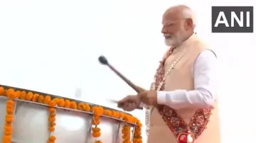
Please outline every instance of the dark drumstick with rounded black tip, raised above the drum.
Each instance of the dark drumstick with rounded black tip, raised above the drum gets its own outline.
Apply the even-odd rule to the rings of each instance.
[[[114,67],[112,67],[112,65],[107,61],[106,57],[100,56],[99,61],[101,64],[106,65],[112,71],[114,71],[114,73],[117,74],[117,76],[119,76],[122,80],[124,80],[124,82],[126,82],[129,86],[131,86],[134,89],[134,91],[136,91],[137,93],[141,92],[141,90],[139,90],[139,88],[137,88],[137,86],[135,86],[135,84],[133,84],[132,81],[129,81],[129,79],[127,79],[124,75],[117,71],[117,69],[114,69]],[[142,110],[143,108],[138,109]]]

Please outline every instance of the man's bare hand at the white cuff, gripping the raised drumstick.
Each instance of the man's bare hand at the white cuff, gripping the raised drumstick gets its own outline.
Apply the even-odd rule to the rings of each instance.
[[[146,105],[157,105],[157,92],[156,91],[142,91],[138,94],[141,101]]]

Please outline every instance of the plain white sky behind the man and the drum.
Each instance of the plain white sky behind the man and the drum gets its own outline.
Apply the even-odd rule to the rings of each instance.
[[[176,4],[193,8],[198,35],[217,52],[223,143],[253,139],[256,35],[211,33],[211,6],[253,6],[252,0],[1,0],[0,84],[69,98],[82,88],[80,100],[115,108],[105,98],[134,91],[97,57],[105,55],[134,83],[149,88],[166,50],[161,15]],[[144,122],[144,111],[132,114]]]

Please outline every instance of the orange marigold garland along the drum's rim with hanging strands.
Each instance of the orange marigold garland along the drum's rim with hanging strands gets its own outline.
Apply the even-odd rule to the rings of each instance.
[[[68,99],[63,98],[53,98],[51,100],[50,96],[43,96],[38,93],[32,93],[26,91],[16,91],[14,88],[5,89],[4,87],[0,87],[0,96],[6,96],[8,101],[6,102],[6,122],[4,125],[4,136],[2,139],[3,143],[11,143],[11,132],[12,132],[12,122],[14,121],[14,107],[15,107],[15,99],[21,99],[23,101],[33,101],[36,103],[42,103],[44,105],[48,105],[48,131],[50,132],[50,137],[48,137],[47,143],[55,143],[56,137],[52,135],[55,131],[55,117],[56,117],[56,107],[60,108],[70,108],[73,110],[82,110],[87,113],[93,113],[92,118],[92,136],[96,138],[94,143],[102,143],[98,137],[100,137],[100,116],[106,115],[112,118],[118,118],[124,120],[126,124],[122,129],[123,133],[123,143],[131,143],[130,140],[130,126],[127,122],[131,122],[136,124],[134,130],[134,139],[133,143],[142,143],[142,124],[139,120],[132,115],[127,115],[126,113],[119,113],[114,110],[107,110],[102,108],[101,106],[93,106],[90,107],[87,103],[76,103],[75,101],[69,101]]]

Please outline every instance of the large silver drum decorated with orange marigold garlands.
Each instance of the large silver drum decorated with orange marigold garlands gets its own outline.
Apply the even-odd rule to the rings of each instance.
[[[6,143],[142,142],[134,116],[70,98],[0,85],[0,110]]]

